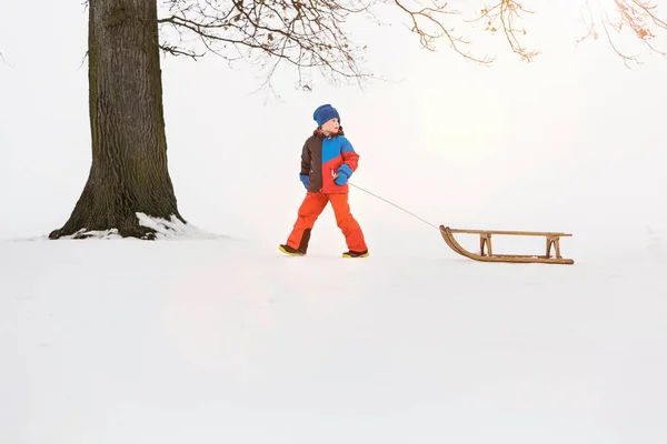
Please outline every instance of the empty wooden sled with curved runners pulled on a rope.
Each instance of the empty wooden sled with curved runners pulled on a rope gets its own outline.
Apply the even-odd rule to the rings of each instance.
[[[454,233],[479,234],[479,253],[470,253],[464,249],[454,238]],[[571,236],[568,233],[551,233],[540,231],[497,231],[497,230],[459,230],[440,225],[442,239],[455,252],[475,261],[482,262],[515,262],[515,263],[552,263],[552,264],[574,264],[571,259],[565,259],[560,255],[560,238]],[[547,241],[547,252],[545,255],[524,255],[524,254],[495,254],[491,248],[491,235],[530,235],[545,236]],[[485,252],[486,248],[486,252]],[[556,255],[551,255],[551,248]],[[488,254],[487,254],[488,252]]]

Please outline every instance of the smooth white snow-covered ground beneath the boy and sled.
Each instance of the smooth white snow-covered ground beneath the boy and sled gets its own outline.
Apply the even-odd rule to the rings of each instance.
[[[667,440],[666,263],[486,264],[434,233],[361,260],[4,241],[1,441]]]

